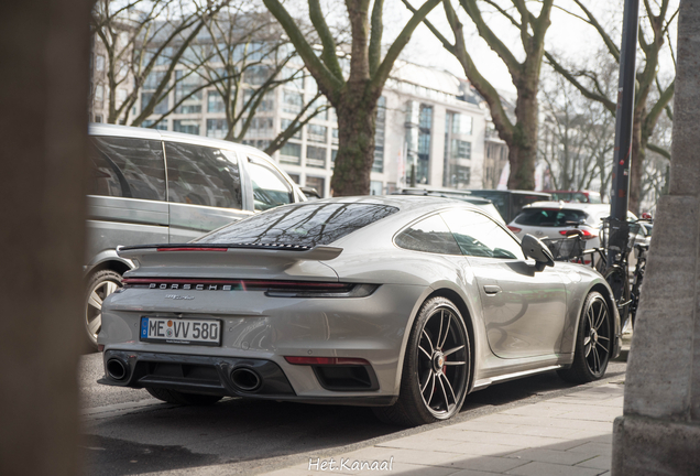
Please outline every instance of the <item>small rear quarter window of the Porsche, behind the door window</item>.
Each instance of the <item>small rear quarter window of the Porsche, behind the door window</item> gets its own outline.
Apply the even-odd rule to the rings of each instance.
[[[455,237],[439,215],[423,219],[396,236],[396,246],[414,251],[461,255]]]

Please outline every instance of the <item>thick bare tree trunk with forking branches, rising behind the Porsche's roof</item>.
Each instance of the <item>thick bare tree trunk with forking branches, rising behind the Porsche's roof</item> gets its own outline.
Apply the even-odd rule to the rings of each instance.
[[[318,90],[336,109],[339,148],[330,181],[333,194],[369,194],[378,100],[414,30],[440,0],[427,0],[414,12],[383,58],[384,0],[374,0],[373,4],[370,0],[344,0],[351,35],[349,60],[339,52],[320,0],[308,0],[308,14],[320,51],[307,40],[303,23],[295,21],[280,0],[263,2],[287,33]],[[349,62],[349,71],[343,71],[346,62]]]

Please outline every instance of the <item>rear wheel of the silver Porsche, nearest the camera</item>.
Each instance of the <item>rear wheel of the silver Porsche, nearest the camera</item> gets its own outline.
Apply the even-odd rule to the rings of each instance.
[[[372,410],[383,422],[402,426],[448,420],[464,402],[470,375],[471,346],[464,320],[451,301],[430,299],[408,336],[398,400]]]

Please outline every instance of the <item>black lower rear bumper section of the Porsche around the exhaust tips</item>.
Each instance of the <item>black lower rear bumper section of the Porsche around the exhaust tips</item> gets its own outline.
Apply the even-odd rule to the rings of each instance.
[[[111,349],[105,351],[103,360],[106,368],[108,363],[116,360],[127,369],[123,378],[117,379],[106,372],[98,380],[98,383],[114,387],[167,388],[186,393],[365,407],[391,405],[396,400],[392,396],[343,397],[338,392],[332,397],[298,396],[282,368],[265,359]],[[259,376],[260,386],[254,389],[237,386],[231,374],[240,369]],[[373,370],[368,368],[368,372],[370,380],[376,382]]]

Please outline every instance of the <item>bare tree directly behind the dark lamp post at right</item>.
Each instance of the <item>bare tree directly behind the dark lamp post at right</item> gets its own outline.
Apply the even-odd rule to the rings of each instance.
[[[606,29],[582,0],[573,0],[581,13],[570,12],[592,26],[602,39],[608,54],[619,64],[620,47],[613,41],[610,29]],[[642,199],[642,177],[645,169],[646,151],[650,150],[670,160],[670,152],[664,147],[650,142],[659,117],[666,113],[672,118],[670,102],[675,90],[675,74],[663,82],[659,76],[659,60],[663,54],[674,52],[670,47],[670,30],[678,14],[677,8],[671,8],[671,0],[644,1],[644,14],[641,15],[638,43],[642,63],[637,67],[634,123],[632,129],[632,164],[630,170],[630,210],[639,212]],[[665,46],[668,46],[666,48]],[[616,110],[617,91],[604,91],[600,87],[600,73],[594,68],[567,67],[564,62],[551,52],[545,52],[547,62],[554,69],[576,86],[583,96],[603,105],[614,115]]]

